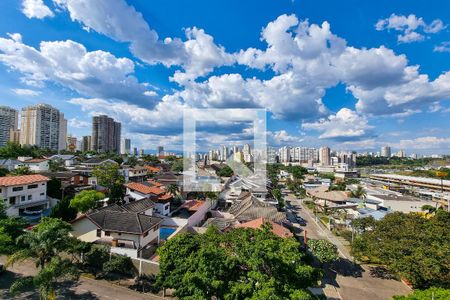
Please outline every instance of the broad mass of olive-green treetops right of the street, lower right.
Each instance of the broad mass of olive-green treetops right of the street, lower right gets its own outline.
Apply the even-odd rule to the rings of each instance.
[[[380,262],[414,287],[450,285],[450,213],[391,213],[353,243],[356,258]],[[366,224],[367,225],[367,224]],[[362,225],[366,227],[366,225]]]

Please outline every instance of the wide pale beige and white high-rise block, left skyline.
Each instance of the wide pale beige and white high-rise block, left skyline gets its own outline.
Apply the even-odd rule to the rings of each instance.
[[[23,108],[20,126],[21,145],[66,149],[67,120],[51,105],[37,104]]]

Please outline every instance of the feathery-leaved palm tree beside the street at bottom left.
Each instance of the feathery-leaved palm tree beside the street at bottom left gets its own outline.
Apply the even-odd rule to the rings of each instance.
[[[71,245],[68,236],[70,230],[70,224],[60,219],[45,217],[33,230],[18,238],[24,247],[9,256],[7,265],[33,259],[39,271],[32,278],[25,277],[14,282],[10,287],[12,294],[32,283],[39,289],[41,299],[53,299],[58,279],[78,277],[72,262],[60,256]]]

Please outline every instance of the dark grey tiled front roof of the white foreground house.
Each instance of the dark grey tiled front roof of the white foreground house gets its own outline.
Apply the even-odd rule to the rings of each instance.
[[[143,234],[162,222],[161,218],[133,212],[102,209],[87,217],[103,231]]]

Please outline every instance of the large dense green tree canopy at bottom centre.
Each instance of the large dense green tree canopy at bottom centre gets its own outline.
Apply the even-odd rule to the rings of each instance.
[[[304,262],[293,238],[263,230],[180,234],[158,249],[157,284],[179,299],[314,299],[319,272]]]

